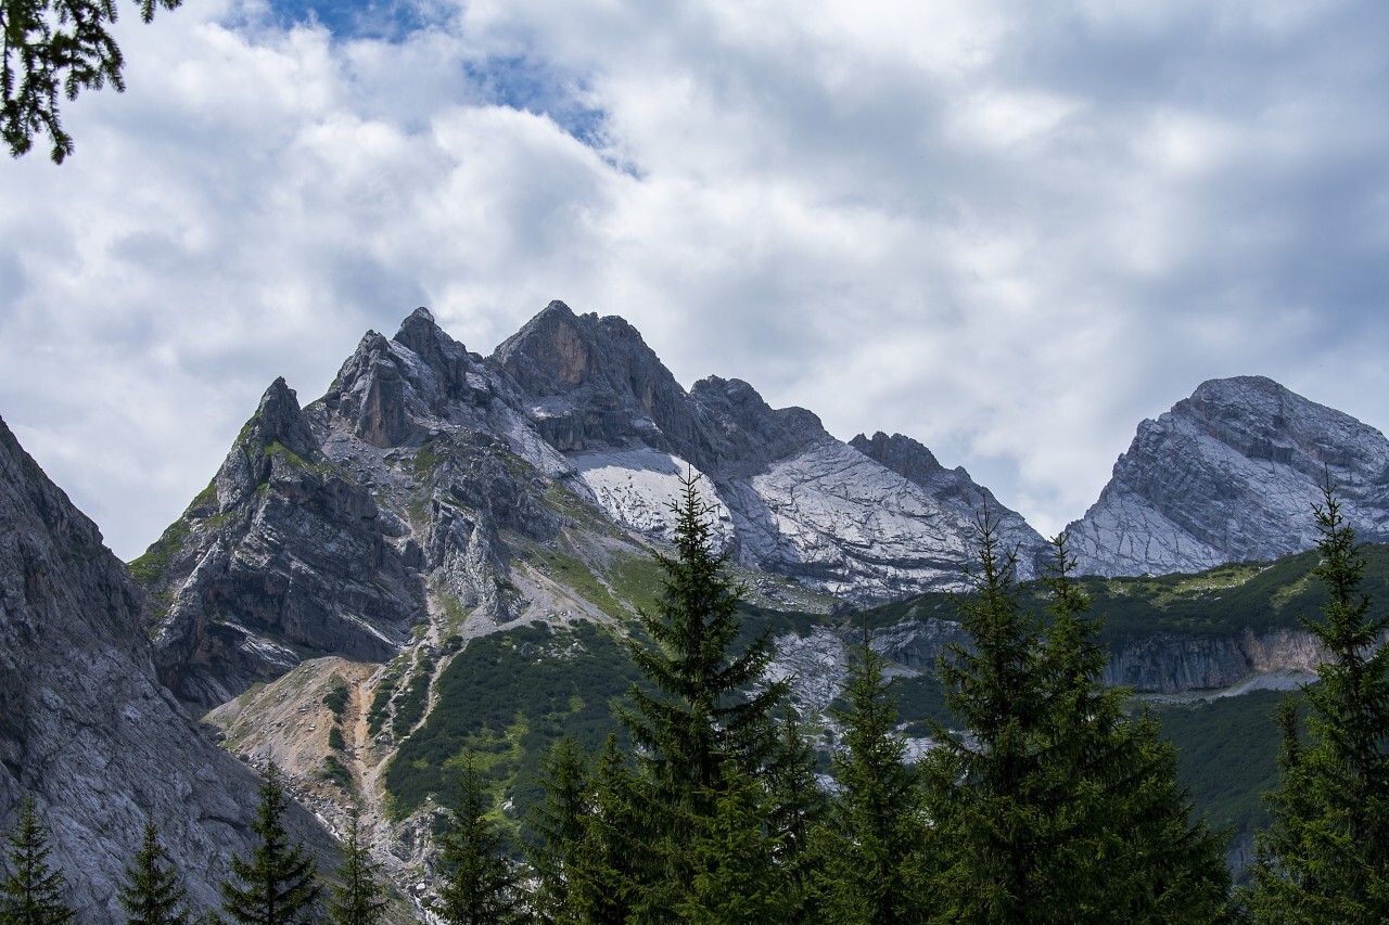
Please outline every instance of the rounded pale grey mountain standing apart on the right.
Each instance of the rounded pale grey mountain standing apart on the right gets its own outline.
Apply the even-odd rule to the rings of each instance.
[[[1067,528],[1082,574],[1196,572],[1311,549],[1329,475],[1361,540],[1389,539],[1389,440],[1263,376],[1213,379],[1143,421]]]

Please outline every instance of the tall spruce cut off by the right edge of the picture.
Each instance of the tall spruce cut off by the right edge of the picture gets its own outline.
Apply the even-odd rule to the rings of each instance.
[[[1328,590],[1320,619],[1303,625],[1329,654],[1304,688],[1307,742],[1296,704],[1282,732],[1274,821],[1256,839],[1250,907],[1270,922],[1389,921],[1389,614],[1372,615],[1360,590],[1365,560],[1328,475],[1314,512],[1321,539],[1315,575]]]

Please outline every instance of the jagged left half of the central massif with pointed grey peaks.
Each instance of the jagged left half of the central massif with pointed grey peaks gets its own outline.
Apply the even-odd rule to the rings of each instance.
[[[553,538],[574,468],[482,358],[417,310],[368,332],[328,394],[267,390],[208,492],[133,562],[160,676],[211,708],[306,658],[389,661],[439,607],[506,621],[513,533]]]

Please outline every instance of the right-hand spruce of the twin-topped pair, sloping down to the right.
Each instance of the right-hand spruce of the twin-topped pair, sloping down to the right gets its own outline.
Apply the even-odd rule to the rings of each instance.
[[[1101,621],[1071,579],[1065,538],[1043,576],[1047,701],[1038,807],[1043,851],[1033,875],[1035,922],[1215,922],[1232,915],[1218,838],[1176,783],[1176,750],[1132,692],[1101,683]]]

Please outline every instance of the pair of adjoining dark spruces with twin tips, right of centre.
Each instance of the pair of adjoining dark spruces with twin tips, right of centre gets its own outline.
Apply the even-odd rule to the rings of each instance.
[[[976,593],[961,599],[971,647],[942,658],[951,712],[928,754],[926,814],[940,914],[951,921],[1221,921],[1220,842],[1176,785],[1157,722],[1104,689],[1099,629],[1068,575],[1064,540],[1045,581],[1050,621],[1022,603],[1014,560],[981,522]]]

